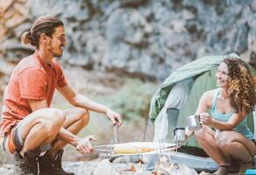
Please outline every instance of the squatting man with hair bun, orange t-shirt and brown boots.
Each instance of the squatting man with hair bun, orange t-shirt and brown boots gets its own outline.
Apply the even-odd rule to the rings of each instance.
[[[121,116],[69,86],[54,59],[62,55],[67,44],[60,19],[38,18],[21,40],[36,50],[18,63],[4,90],[0,123],[4,149],[14,153],[17,174],[74,174],[61,168],[61,156],[66,144],[75,146],[82,154],[93,151],[90,141],[95,137],[76,136],[89,123],[89,110],[108,116],[118,126],[122,123]],[[75,108],[64,111],[50,108],[55,88]],[[45,155],[39,157],[43,151]]]

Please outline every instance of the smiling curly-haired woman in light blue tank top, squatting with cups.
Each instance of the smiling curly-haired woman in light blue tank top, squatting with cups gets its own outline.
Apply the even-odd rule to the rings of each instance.
[[[216,78],[218,88],[205,92],[196,110],[203,128],[186,130],[186,135],[194,133],[203,150],[219,165],[214,174],[227,174],[231,157],[240,160],[239,173],[244,173],[252,168],[256,154],[254,137],[246,126],[246,114],[256,103],[255,81],[245,63],[231,57],[220,64]]]

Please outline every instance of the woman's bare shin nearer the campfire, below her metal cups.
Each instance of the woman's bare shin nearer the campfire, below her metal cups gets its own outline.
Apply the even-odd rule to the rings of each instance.
[[[201,130],[195,131],[197,142],[203,147],[203,150],[212,158],[217,165],[226,165],[227,157],[219,148],[215,139],[215,131],[209,126],[203,126]]]

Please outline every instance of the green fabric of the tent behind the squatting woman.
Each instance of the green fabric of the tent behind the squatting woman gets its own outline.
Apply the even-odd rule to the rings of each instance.
[[[235,53],[231,53],[230,55],[238,58],[238,55]],[[192,83],[191,88],[189,88],[188,101],[182,107],[182,109],[179,109],[179,112],[176,113],[178,116],[177,121],[171,121],[171,123],[175,123],[175,126],[186,127],[186,117],[195,114],[199,99],[203,93],[210,89],[217,88],[215,78],[217,67],[224,58],[230,55],[214,55],[204,57],[202,59],[196,59],[195,61],[181,66],[181,68],[174,71],[167,78],[167,80],[164,81],[164,83],[160,86],[160,89],[153,96],[151,109],[149,112],[149,116],[152,121],[155,121],[156,117],[158,117],[160,114],[160,110],[164,108],[165,102],[167,101],[167,96],[171,92],[174,85],[179,81],[192,77],[194,82]],[[253,74],[256,74],[256,70],[253,68],[252,72]],[[247,118],[247,124],[250,130],[253,132],[254,127],[252,114],[250,114]],[[155,128],[155,130],[160,129]],[[199,147],[194,137],[189,138],[187,145]]]

